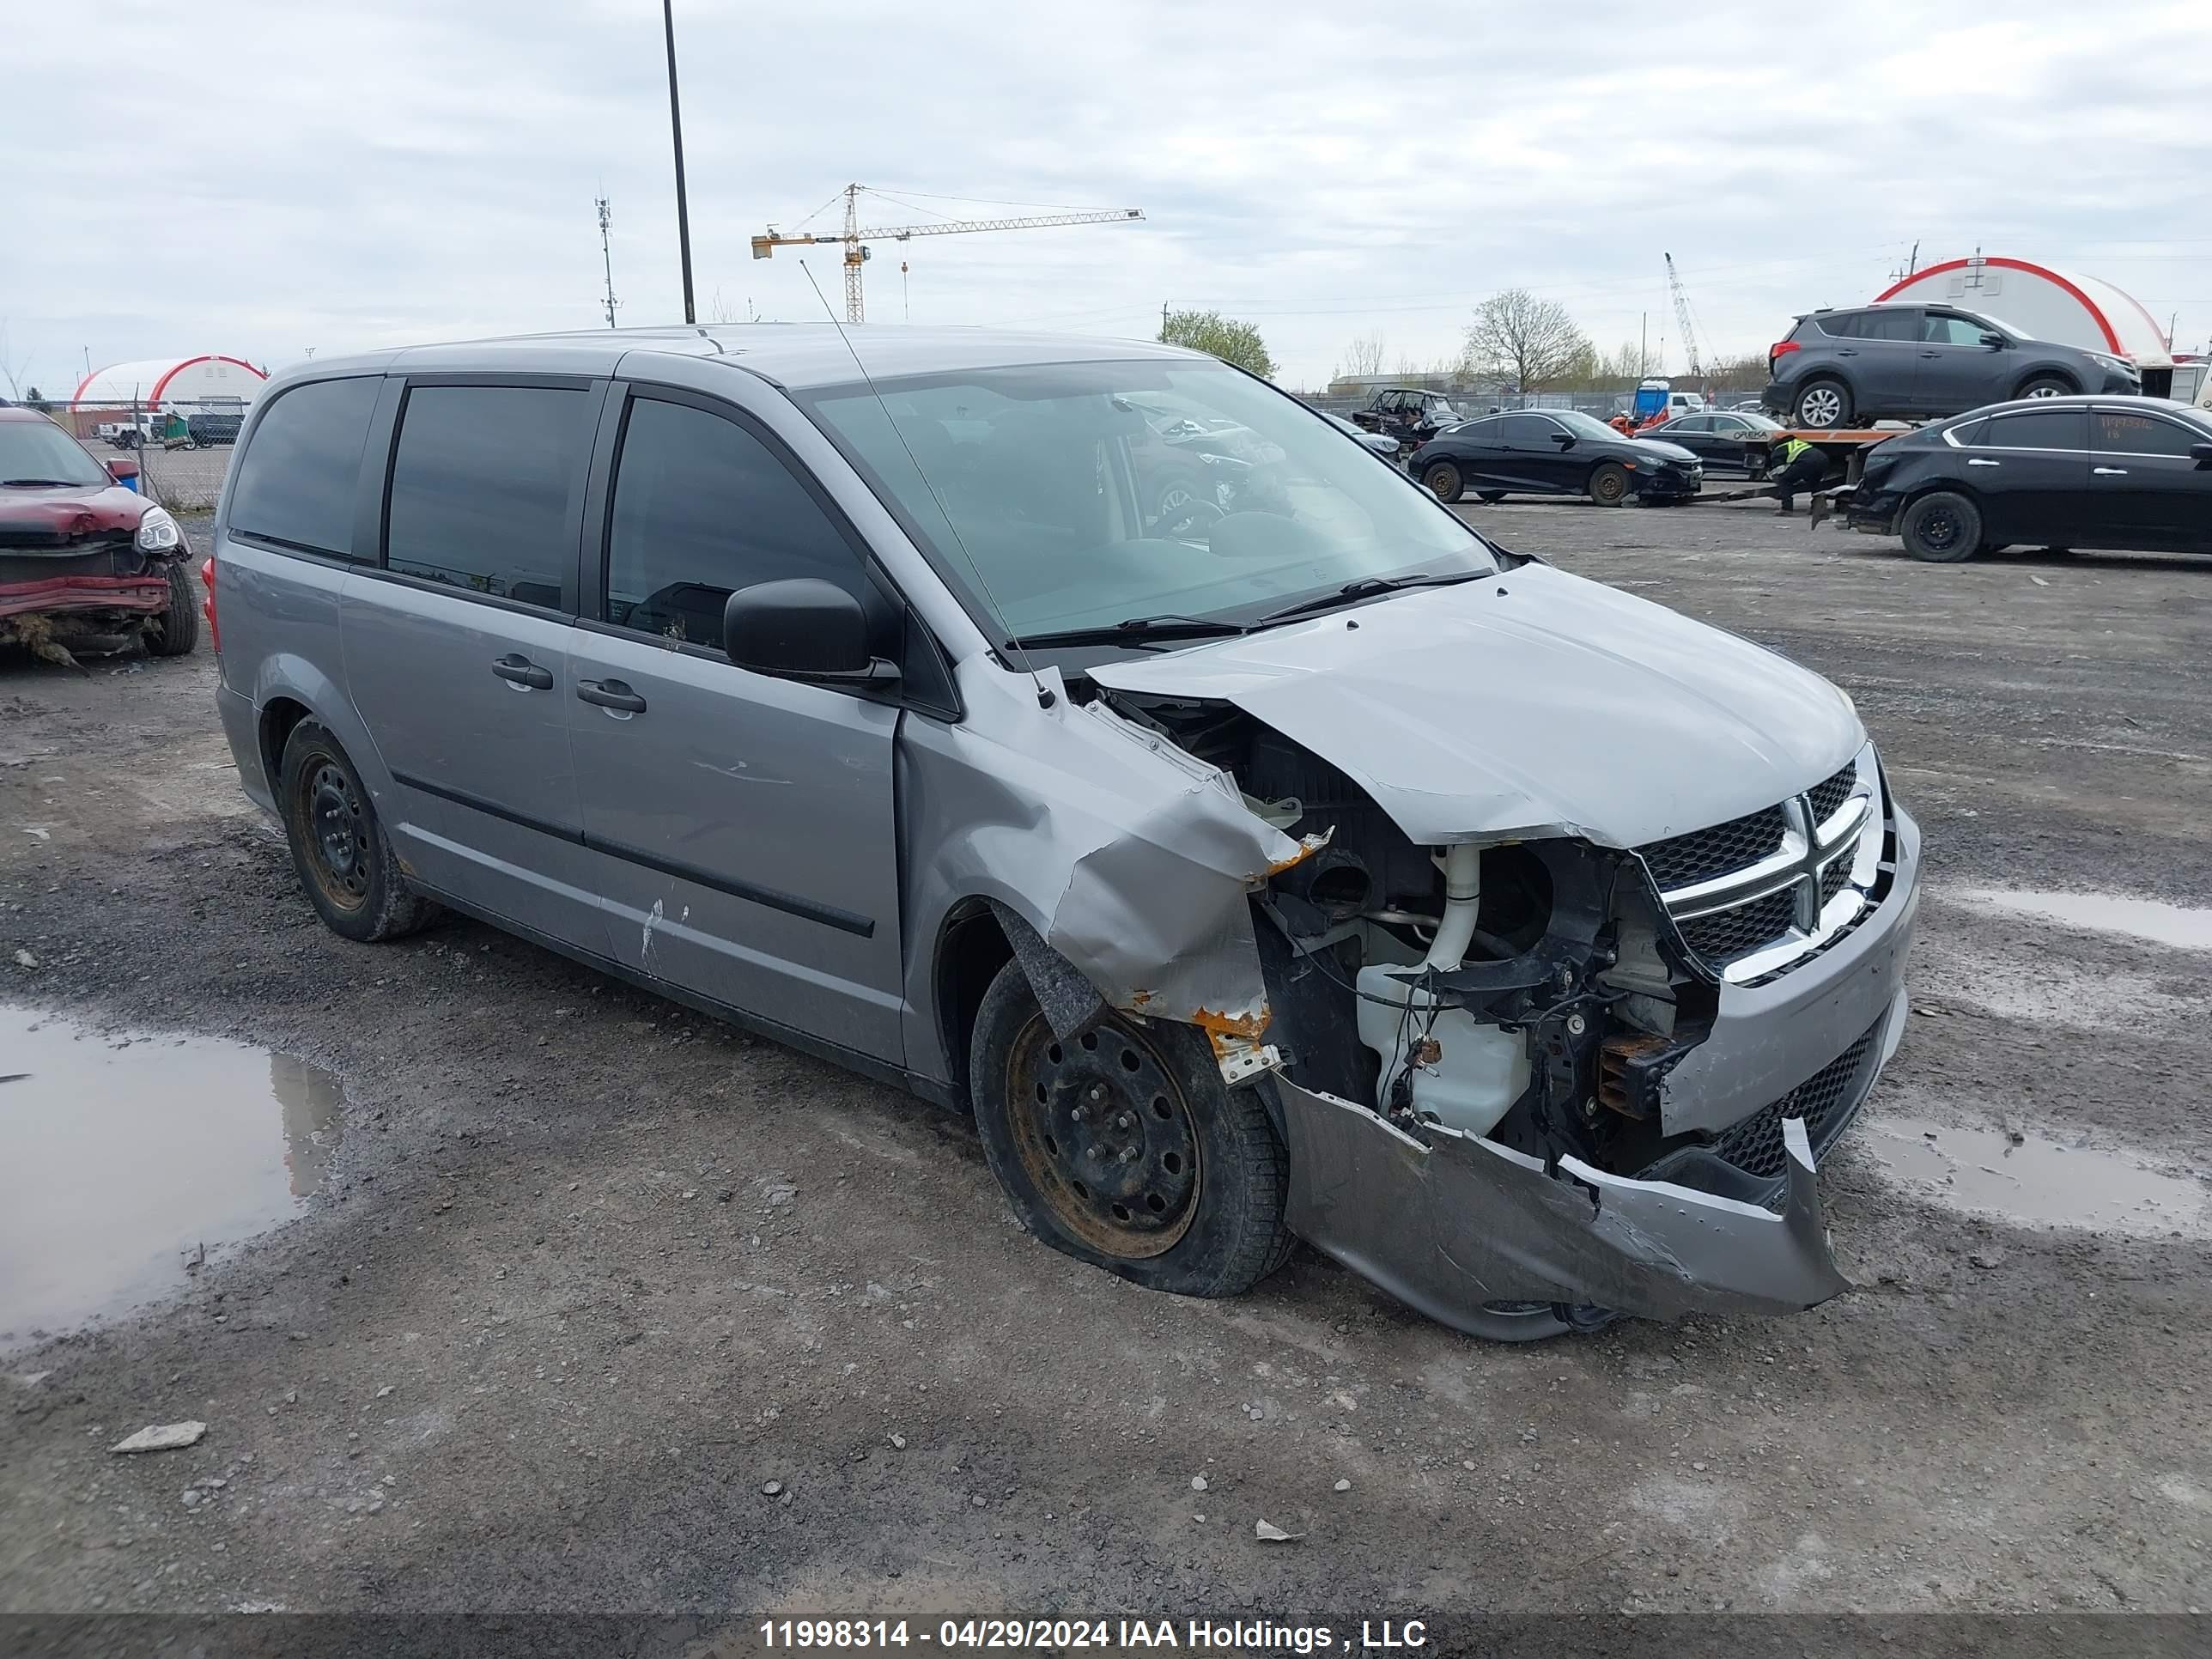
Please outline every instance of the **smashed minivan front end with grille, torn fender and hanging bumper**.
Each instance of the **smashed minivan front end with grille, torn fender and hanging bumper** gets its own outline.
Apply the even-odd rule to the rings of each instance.
[[[1847,1287],[1814,1166],[1896,1048],[1918,863],[1856,719],[1794,794],[1606,845],[1524,810],[1416,841],[1230,697],[1068,717],[1190,792],[1002,922],[1062,1037],[1106,1004],[1208,1031],[1292,1232],[1491,1338]]]

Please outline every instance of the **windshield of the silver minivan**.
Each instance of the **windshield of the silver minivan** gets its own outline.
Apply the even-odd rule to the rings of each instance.
[[[1243,624],[1352,582],[1495,568],[1409,478],[1219,363],[878,389],[801,405],[998,639],[1159,615]]]

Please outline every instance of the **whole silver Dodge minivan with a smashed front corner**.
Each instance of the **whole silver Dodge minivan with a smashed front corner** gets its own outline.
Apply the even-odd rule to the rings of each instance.
[[[1175,420],[1164,420],[1172,409]],[[310,902],[945,1106],[1046,1243],[1307,1239],[1500,1338],[1845,1287],[1920,834],[1851,701],[1164,345],[628,330],[301,365],[215,526]]]

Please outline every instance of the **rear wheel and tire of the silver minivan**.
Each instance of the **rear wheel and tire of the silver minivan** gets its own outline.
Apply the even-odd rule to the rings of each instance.
[[[276,801],[299,885],[332,933],[372,945],[438,914],[400,878],[376,803],[321,721],[301,721],[285,739]]]

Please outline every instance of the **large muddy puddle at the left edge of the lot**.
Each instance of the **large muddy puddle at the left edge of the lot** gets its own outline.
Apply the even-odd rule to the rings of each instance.
[[[0,1345],[175,1290],[201,1243],[299,1214],[338,1144],[336,1077],[215,1037],[0,1006]]]

